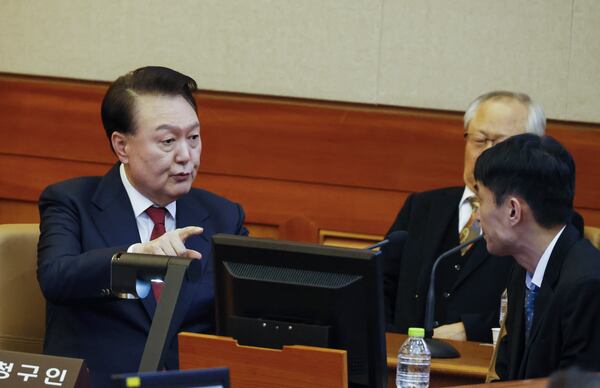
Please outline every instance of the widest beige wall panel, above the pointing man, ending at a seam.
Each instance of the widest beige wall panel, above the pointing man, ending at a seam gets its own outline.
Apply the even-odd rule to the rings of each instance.
[[[375,102],[381,1],[7,1],[0,71],[112,80],[181,69],[203,89]]]

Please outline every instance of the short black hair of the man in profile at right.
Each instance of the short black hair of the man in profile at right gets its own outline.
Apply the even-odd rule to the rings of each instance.
[[[475,180],[494,194],[496,205],[508,195],[523,198],[545,228],[571,217],[575,162],[550,136],[516,135],[484,151],[475,163]]]

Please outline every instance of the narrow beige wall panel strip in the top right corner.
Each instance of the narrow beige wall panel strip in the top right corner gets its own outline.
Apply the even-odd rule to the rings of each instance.
[[[600,122],[600,2],[575,0],[567,117]]]

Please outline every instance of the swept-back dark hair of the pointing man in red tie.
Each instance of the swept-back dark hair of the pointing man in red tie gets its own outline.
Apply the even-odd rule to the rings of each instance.
[[[138,95],[181,96],[196,110],[196,81],[160,66],[141,67],[117,78],[102,100],[102,124],[110,142],[113,132],[134,133],[133,109]]]

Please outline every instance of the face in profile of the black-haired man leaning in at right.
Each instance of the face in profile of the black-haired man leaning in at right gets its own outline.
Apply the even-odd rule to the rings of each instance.
[[[492,193],[481,182],[475,185],[477,197],[479,198],[479,214],[477,218],[487,243],[487,250],[493,255],[508,255],[507,250],[511,246],[513,229],[510,227],[510,204],[504,200],[496,204],[494,193]]]

